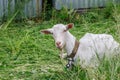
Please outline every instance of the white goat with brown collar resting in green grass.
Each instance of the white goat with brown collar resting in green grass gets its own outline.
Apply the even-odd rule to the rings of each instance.
[[[108,34],[86,33],[78,42],[68,31],[73,26],[72,23],[68,25],[56,24],[51,29],[41,30],[44,34],[52,34],[56,47],[67,52],[70,58],[67,67],[78,60],[80,60],[80,65],[83,68],[95,67],[98,65],[97,58],[109,57],[115,53],[119,46],[113,37]]]

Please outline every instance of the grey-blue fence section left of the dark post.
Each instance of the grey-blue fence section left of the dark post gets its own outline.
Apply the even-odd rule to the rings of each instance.
[[[42,11],[42,0],[0,0],[0,20],[14,14],[20,8],[24,17],[39,16]]]

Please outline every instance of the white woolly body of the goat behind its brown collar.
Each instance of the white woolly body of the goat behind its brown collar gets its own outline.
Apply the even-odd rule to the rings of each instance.
[[[76,57],[80,57],[81,64],[89,65],[95,57],[101,59],[103,56],[110,56],[118,46],[119,43],[111,35],[86,33],[80,39]]]

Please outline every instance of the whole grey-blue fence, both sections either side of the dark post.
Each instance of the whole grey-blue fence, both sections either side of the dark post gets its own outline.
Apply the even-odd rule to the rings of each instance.
[[[25,2],[26,1],[26,2]],[[51,0],[55,9],[60,10],[63,6],[68,9],[81,9],[93,7],[105,7],[110,1],[120,0]],[[0,21],[8,15],[14,14],[17,9],[22,9],[24,17],[38,17],[42,11],[45,0],[0,0]],[[25,4],[22,4],[25,3]]]

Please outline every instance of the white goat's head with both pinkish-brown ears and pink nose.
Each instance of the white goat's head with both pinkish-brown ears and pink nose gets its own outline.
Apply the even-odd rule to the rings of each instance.
[[[69,23],[67,25],[56,24],[50,29],[41,30],[41,32],[44,34],[52,34],[56,47],[62,49],[65,46],[66,34],[73,26],[73,23]]]

